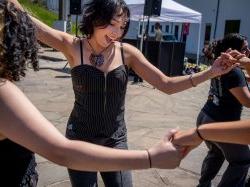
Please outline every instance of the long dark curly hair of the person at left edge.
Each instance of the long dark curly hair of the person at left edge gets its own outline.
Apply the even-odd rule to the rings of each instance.
[[[25,76],[26,65],[31,64],[37,71],[37,40],[35,27],[27,13],[15,8],[13,3],[0,0],[3,17],[3,41],[0,42],[0,78],[10,81]]]

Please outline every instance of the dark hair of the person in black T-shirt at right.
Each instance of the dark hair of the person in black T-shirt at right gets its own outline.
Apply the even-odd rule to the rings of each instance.
[[[230,33],[226,35],[223,39],[212,42],[209,46],[209,53],[207,57],[213,57],[213,59],[218,58],[222,52],[226,52],[229,48],[232,50],[240,51],[244,44],[244,41],[247,40],[245,36],[242,36],[238,33]],[[208,56],[210,55],[210,56]]]

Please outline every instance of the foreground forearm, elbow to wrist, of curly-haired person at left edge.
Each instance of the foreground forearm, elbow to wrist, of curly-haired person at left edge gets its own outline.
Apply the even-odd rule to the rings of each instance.
[[[80,141],[68,141],[57,163],[76,170],[118,171],[149,168],[147,152],[111,149]],[[60,161],[63,161],[60,163]]]

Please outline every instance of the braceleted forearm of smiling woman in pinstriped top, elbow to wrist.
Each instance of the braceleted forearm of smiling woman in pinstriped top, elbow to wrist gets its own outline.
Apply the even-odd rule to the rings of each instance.
[[[205,70],[199,73],[195,73],[186,76],[178,77],[168,77],[161,84],[160,90],[167,94],[174,94],[184,90],[187,90],[191,87],[197,86],[198,84],[213,78],[211,70]]]

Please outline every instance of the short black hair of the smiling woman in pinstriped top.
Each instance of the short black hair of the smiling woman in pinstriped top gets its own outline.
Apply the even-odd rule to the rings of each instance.
[[[130,11],[124,0],[88,0],[84,4],[80,31],[82,34],[91,37],[94,27],[107,26],[119,9],[127,16],[128,20],[124,28],[123,38],[128,32],[130,23]]]

